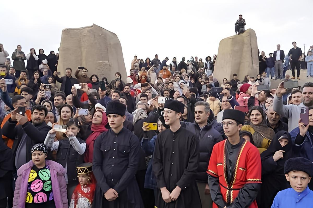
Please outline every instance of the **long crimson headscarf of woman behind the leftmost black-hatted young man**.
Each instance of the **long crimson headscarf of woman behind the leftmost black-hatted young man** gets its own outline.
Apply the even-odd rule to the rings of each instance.
[[[102,113],[102,121],[101,124],[91,124],[92,133],[86,139],[85,162],[92,162],[94,154],[94,143],[96,138],[101,133],[108,131],[108,129],[105,128],[105,125],[108,123],[108,117],[106,116],[105,112],[102,112],[101,110],[97,110],[96,112]]]

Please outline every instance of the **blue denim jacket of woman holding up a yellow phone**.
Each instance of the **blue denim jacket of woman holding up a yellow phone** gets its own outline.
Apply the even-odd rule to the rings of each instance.
[[[149,141],[148,138],[143,138],[142,142],[141,142],[141,148],[143,149],[143,151],[146,153],[146,155],[152,155],[153,151],[154,151],[154,146],[156,143],[156,137],[157,135],[155,135],[154,137],[152,137],[152,139]],[[153,156],[152,156],[153,157]],[[146,177],[145,177],[145,188],[149,188],[149,189],[156,189],[156,177],[153,173],[152,170],[152,161],[153,158],[151,157],[148,166],[147,166],[147,171],[146,171]]]

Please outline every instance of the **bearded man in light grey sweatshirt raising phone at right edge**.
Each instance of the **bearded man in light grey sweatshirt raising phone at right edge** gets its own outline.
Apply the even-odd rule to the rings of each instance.
[[[313,83],[307,82],[303,85],[301,94],[302,103],[299,105],[283,105],[283,94],[286,92],[284,82],[286,81],[281,82],[276,90],[276,95],[273,100],[273,109],[282,117],[288,118],[288,131],[291,132],[298,127],[301,108],[313,106]]]

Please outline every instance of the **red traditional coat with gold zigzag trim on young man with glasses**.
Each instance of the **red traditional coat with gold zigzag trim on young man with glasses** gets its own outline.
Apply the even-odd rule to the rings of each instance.
[[[207,173],[218,177],[224,201],[232,203],[239,193],[239,189],[246,183],[261,183],[261,157],[259,150],[250,142],[244,141],[239,150],[235,173],[230,184],[227,181],[226,170],[226,141],[214,145]],[[257,208],[254,200],[249,208]],[[213,208],[218,206],[213,202]]]

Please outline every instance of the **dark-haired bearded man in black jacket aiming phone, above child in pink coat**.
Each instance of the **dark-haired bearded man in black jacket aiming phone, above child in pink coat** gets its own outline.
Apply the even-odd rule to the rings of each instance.
[[[30,149],[44,140],[51,129],[44,122],[48,110],[43,105],[34,105],[31,109],[32,120],[28,121],[27,115],[14,109],[11,118],[3,126],[3,135],[8,138],[17,138],[12,147],[13,160],[16,170],[30,161]],[[17,125],[19,123],[20,125]]]

